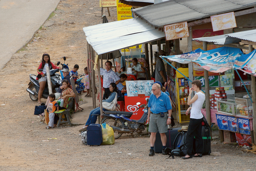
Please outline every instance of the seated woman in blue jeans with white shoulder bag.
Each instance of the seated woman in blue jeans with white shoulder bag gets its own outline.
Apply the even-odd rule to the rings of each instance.
[[[117,93],[117,87],[116,87],[116,84],[115,83],[110,83],[109,85],[109,90],[111,92],[110,96],[108,99],[104,99],[102,100],[102,102],[106,101],[106,102],[112,102],[115,97],[116,97],[116,93]],[[106,109],[103,108],[103,111],[108,111]],[[93,115],[92,115],[93,114]],[[92,115],[92,116],[91,116]],[[93,110],[91,110],[90,112],[90,115],[89,115],[89,118],[85,124],[85,126],[79,130],[79,132],[82,132],[82,131],[86,131],[87,130],[87,127],[92,124],[92,123],[96,123],[97,121],[97,115],[100,115],[100,107],[97,107]]]

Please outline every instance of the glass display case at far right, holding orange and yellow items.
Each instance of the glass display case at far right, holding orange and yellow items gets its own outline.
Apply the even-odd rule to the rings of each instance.
[[[237,116],[252,117],[252,102],[250,99],[235,97]]]

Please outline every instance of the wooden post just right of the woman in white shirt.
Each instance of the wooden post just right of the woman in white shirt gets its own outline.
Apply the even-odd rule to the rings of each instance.
[[[203,42],[203,50],[207,51],[207,42]],[[210,111],[210,87],[209,87],[209,75],[208,71],[204,69],[205,76],[205,110],[206,119],[209,124],[211,124],[211,111]]]

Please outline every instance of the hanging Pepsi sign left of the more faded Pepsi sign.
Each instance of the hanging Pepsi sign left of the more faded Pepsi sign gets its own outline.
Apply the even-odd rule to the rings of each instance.
[[[166,40],[174,40],[183,37],[189,37],[188,23],[180,22],[164,26]]]

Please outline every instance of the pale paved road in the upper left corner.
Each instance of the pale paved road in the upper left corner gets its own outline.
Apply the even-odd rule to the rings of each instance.
[[[0,0],[0,70],[44,24],[60,0]]]

